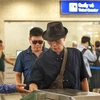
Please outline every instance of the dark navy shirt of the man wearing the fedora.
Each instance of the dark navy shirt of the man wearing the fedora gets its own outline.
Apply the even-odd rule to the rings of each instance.
[[[48,49],[34,63],[30,73],[29,83],[35,83],[39,89],[47,89],[56,79],[62,65],[64,51],[60,55]],[[83,57],[79,50],[68,48],[67,63],[65,66],[63,87],[81,89],[80,82],[87,78]]]

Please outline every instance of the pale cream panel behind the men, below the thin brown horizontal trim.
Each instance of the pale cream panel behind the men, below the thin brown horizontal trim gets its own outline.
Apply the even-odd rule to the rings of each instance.
[[[46,30],[47,21],[34,22],[5,22],[5,54],[8,56],[16,56],[16,50],[24,50],[29,47],[29,31],[32,27],[41,27]],[[68,34],[65,41],[65,46],[71,47],[72,41],[77,41],[80,44],[81,37],[86,35],[90,29],[87,26],[93,26],[93,22],[62,22],[68,28]],[[97,27],[97,26],[95,26]],[[99,31],[96,28],[92,32]],[[100,27],[100,25],[98,26]],[[100,37],[92,37],[92,39],[99,39]],[[46,47],[48,44],[46,43]]]

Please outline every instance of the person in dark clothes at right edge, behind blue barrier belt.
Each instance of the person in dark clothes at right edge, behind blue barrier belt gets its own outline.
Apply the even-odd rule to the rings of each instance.
[[[94,68],[98,69],[91,69],[92,78],[90,79],[90,86],[91,90],[94,92],[99,93],[100,90],[100,41],[95,41],[95,51],[97,55],[97,60],[93,63]]]

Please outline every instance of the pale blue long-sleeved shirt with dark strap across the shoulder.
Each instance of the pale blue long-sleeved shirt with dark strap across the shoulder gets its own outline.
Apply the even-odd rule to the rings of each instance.
[[[82,45],[79,45],[77,47],[77,49],[80,50],[81,52],[84,48],[85,47]],[[87,49],[83,54],[83,59],[84,59],[84,63],[85,63],[86,69],[88,71],[88,74],[91,77],[92,74],[91,74],[91,70],[90,70],[90,66],[89,66],[89,61],[96,61],[96,59],[97,59],[96,52],[93,51],[93,53],[92,53],[89,49]]]

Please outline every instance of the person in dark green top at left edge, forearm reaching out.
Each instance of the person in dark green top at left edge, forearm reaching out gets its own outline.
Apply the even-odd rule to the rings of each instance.
[[[3,41],[0,40],[0,84],[4,83],[5,62],[14,66],[14,63],[5,56],[3,50],[4,50]],[[1,96],[1,99],[5,100],[3,95]]]

